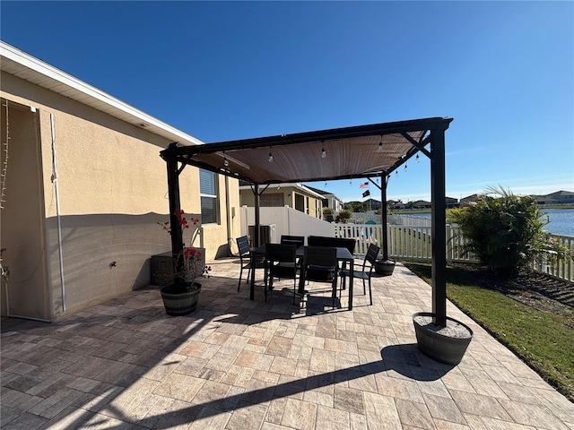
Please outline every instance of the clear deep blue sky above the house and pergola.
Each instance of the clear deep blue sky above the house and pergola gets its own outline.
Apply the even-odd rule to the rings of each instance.
[[[204,142],[448,116],[448,196],[574,191],[572,2],[3,0],[0,13],[5,42]],[[430,178],[409,162],[388,198],[429,200]],[[361,182],[314,186],[362,200]]]

